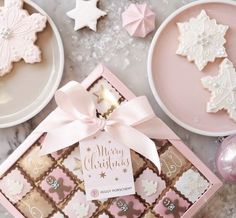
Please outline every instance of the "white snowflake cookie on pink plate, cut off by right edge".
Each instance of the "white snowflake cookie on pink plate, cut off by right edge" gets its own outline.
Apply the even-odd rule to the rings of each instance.
[[[211,92],[207,112],[225,109],[236,121],[236,71],[233,63],[225,58],[220,64],[219,74],[203,77],[201,82]]]

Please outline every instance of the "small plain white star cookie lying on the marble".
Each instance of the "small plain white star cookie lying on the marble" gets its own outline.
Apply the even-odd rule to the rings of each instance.
[[[75,20],[74,30],[89,27],[97,31],[97,20],[107,13],[97,8],[99,0],[76,0],[75,9],[67,12],[67,16]]]

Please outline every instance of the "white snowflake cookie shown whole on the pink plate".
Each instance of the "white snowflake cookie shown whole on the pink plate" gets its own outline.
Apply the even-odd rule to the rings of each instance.
[[[176,54],[186,56],[188,61],[194,61],[201,71],[215,58],[227,57],[224,47],[225,34],[228,26],[217,24],[210,19],[205,10],[188,22],[177,23],[179,29],[179,47]]]

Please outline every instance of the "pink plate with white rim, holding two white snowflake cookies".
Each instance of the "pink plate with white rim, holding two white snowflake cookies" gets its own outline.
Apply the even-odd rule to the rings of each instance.
[[[236,2],[200,0],[178,9],[157,30],[149,50],[149,82],[157,102],[176,123],[198,134],[225,136],[236,133],[236,122],[226,111],[206,112],[210,92],[200,81],[204,76],[218,74],[223,59],[209,63],[200,72],[195,64],[175,54],[179,36],[176,23],[196,17],[202,9],[218,23],[230,27],[226,49],[236,66]]]

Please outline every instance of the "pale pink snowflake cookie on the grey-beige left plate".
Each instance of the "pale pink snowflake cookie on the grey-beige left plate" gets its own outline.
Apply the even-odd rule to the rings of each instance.
[[[46,17],[29,15],[22,9],[23,0],[5,0],[0,7],[0,76],[12,69],[12,62],[22,58],[26,63],[41,61],[41,52],[34,45],[36,33],[46,26]]]

